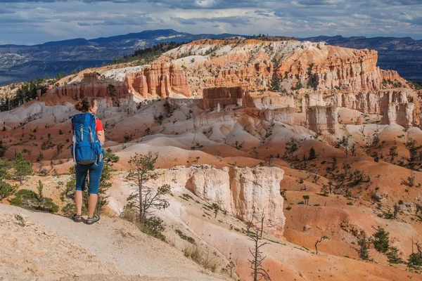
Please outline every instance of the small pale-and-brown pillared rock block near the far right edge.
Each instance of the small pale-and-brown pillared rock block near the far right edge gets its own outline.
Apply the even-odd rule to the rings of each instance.
[[[384,124],[398,124],[404,128],[413,126],[414,103],[390,103],[384,115]]]

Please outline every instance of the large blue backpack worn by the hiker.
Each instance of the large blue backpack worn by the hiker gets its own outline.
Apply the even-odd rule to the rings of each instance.
[[[103,145],[96,136],[96,117],[80,113],[72,117],[73,144],[71,149],[75,164],[92,164],[103,159]]]

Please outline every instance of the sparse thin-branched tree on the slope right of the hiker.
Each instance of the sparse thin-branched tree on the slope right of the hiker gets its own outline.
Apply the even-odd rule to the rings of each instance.
[[[129,164],[132,169],[127,178],[136,183],[136,189],[127,198],[128,207],[139,211],[138,220],[140,223],[146,222],[146,218],[153,212],[153,209],[165,209],[169,206],[168,200],[163,195],[170,193],[170,185],[161,185],[157,190],[153,190],[147,184],[154,175],[155,162],[158,153],[153,155],[148,152],[147,155],[135,153],[130,157]]]

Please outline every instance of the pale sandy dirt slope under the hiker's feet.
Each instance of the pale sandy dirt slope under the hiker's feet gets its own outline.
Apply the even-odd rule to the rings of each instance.
[[[0,249],[0,280],[224,280],[121,218],[102,217],[87,226],[5,204],[0,204],[0,217],[0,237],[9,245]],[[119,273],[139,277],[115,276]],[[89,274],[108,277],[72,276]]]

